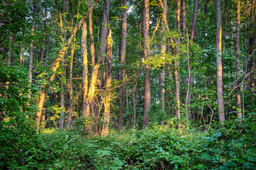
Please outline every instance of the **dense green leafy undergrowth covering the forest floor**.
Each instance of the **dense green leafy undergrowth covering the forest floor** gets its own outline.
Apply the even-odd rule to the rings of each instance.
[[[8,163],[2,155],[1,165],[39,170],[256,170],[255,118],[207,128],[151,125],[110,130],[106,137],[82,135],[81,127],[45,129],[16,149],[16,155],[8,155]]]

